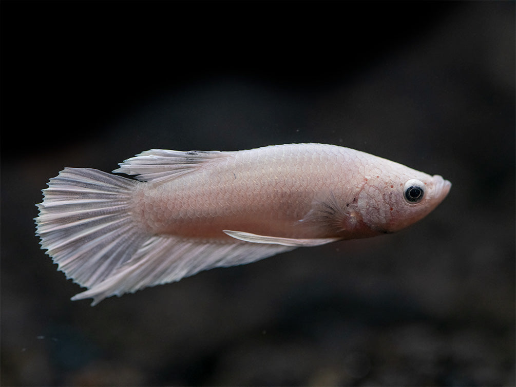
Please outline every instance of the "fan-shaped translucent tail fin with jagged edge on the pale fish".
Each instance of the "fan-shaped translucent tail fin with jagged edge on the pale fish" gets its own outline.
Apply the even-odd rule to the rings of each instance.
[[[67,278],[86,287],[102,282],[149,239],[131,216],[136,184],[96,169],[65,168],[43,189],[36,234]]]

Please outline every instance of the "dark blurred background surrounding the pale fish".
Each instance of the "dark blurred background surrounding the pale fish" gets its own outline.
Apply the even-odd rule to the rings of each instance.
[[[0,7],[2,385],[514,385],[514,2]],[[39,249],[63,167],[309,141],[453,187],[398,234],[94,308]]]

